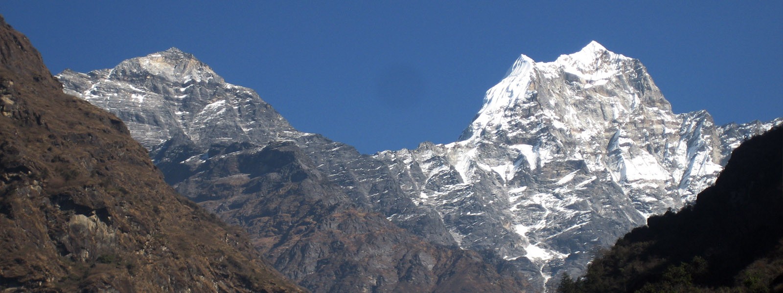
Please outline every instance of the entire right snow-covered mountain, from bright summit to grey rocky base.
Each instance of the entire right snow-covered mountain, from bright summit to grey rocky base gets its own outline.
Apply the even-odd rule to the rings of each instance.
[[[376,157],[460,246],[537,263],[546,280],[694,200],[734,135],[705,111],[672,113],[639,60],[593,41],[550,63],[521,55],[459,141]]]

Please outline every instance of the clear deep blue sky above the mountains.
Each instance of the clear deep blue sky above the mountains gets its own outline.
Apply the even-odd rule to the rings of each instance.
[[[675,113],[783,116],[781,1],[224,3],[5,0],[0,13],[52,73],[177,47],[364,153],[455,141],[518,55],[549,62],[592,40],[640,59]]]

